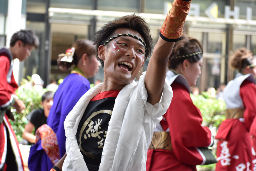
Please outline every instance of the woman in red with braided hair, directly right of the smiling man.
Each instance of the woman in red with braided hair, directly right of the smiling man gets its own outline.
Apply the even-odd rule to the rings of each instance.
[[[147,156],[147,171],[196,171],[196,165],[217,162],[207,147],[213,144],[211,131],[202,126],[202,115],[193,104],[189,87],[201,73],[201,43],[185,37],[175,43],[166,73],[173,99],[154,130]]]

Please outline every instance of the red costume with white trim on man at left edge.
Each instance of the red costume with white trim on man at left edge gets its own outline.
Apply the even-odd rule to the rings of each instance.
[[[14,103],[12,94],[18,85],[12,72],[12,55],[6,48],[0,49],[0,110],[10,110]],[[8,117],[5,114],[0,119],[0,170],[12,170],[17,168],[23,171],[23,161],[19,150],[19,142]],[[13,160],[13,161],[12,161]]]

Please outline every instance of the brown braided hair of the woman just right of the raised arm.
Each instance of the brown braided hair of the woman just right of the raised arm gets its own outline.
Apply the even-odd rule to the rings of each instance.
[[[197,62],[203,57],[202,44],[195,38],[183,34],[182,39],[174,44],[168,61],[169,69],[177,69],[184,60]]]

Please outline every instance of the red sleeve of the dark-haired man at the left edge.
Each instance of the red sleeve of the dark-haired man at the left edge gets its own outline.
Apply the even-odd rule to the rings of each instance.
[[[0,106],[6,107],[9,105],[11,93],[13,89],[7,83],[7,73],[10,68],[10,60],[6,56],[0,56]]]

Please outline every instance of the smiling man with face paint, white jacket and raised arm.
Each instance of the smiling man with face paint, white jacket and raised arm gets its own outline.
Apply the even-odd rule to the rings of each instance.
[[[147,72],[134,79],[152,51],[148,24],[129,15],[105,24],[95,45],[104,81],[78,101],[65,122],[67,157],[54,166],[76,171],[146,171],[155,126],[172,99],[165,80],[169,55],[181,39],[190,1],[174,0]]]

